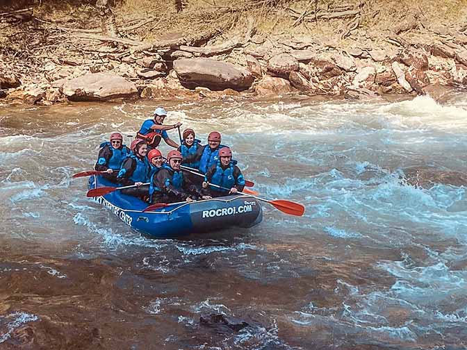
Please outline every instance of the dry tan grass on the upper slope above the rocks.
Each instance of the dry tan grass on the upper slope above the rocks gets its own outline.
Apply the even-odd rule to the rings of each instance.
[[[221,28],[229,35],[244,31],[244,19],[253,17],[258,33],[263,35],[322,38],[345,45],[345,40],[342,42],[340,36],[352,20],[319,20],[318,23],[302,22],[293,26],[295,19],[290,16],[289,8],[300,13],[306,9],[313,10],[314,1],[310,0],[184,1],[188,6],[182,12],[177,12],[173,0],[120,0],[114,12],[117,24],[120,25],[156,17],[153,22],[128,33],[132,38],[145,41],[160,38],[167,33],[189,35],[210,28]],[[346,0],[345,3],[357,7],[360,0]],[[343,1],[318,0],[318,6],[328,8],[329,11],[339,5],[343,5]],[[378,15],[374,15],[376,10],[379,10]],[[42,1],[41,6],[35,7],[35,14],[49,21],[70,22],[69,25],[79,28],[99,26],[97,10],[77,0]],[[377,38],[412,15],[429,25],[467,22],[466,0],[366,0],[359,28]]]

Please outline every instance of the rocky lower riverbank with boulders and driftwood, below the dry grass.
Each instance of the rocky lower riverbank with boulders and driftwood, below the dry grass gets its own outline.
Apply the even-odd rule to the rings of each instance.
[[[106,37],[76,28],[73,18],[51,22],[35,8],[3,12],[1,30],[9,35],[1,42],[1,101],[50,105],[297,93],[439,98],[467,85],[467,26],[461,23],[434,25],[423,13],[407,13],[391,28],[369,31],[361,22],[380,10],[367,3],[286,11],[294,24],[345,26],[333,35],[324,29],[320,35],[264,33],[254,17],[245,17],[228,35],[165,33],[142,44],[131,35]]]

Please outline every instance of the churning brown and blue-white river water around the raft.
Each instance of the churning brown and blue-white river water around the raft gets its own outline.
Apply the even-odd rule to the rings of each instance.
[[[155,107],[0,106],[0,349],[467,347],[466,188],[402,178],[467,171],[465,94],[166,103],[167,123],[222,132],[261,196],[306,206],[183,240],[142,237],[71,179]]]

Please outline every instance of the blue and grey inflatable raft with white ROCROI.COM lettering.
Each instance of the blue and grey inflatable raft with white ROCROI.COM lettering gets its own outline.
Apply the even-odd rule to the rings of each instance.
[[[115,187],[102,176],[91,176],[89,188]],[[122,222],[154,238],[174,238],[229,227],[248,228],[259,224],[263,212],[259,201],[244,194],[192,203],[174,203],[143,213],[149,204],[120,191],[95,198]]]

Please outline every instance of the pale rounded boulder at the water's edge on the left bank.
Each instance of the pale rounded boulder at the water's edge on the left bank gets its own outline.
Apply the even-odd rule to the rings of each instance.
[[[138,89],[134,83],[113,74],[86,74],[65,81],[63,94],[71,101],[99,101],[135,97]]]

